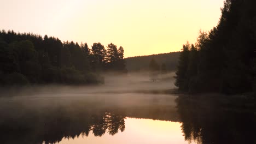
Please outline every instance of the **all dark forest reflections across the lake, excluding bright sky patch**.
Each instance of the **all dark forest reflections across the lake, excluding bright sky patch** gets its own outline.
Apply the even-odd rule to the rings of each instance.
[[[42,95],[40,98],[27,97],[26,102],[20,101],[24,98],[2,99],[1,143],[58,143],[79,136],[86,139],[89,135],[115,135],[125,131],[127,117],[180,122],[187,142],[256,143],[255,100],[232,98],[230,101],[211,95],[193,98],[185,95],[178,98],[173,95],[134,96],[136,100],[132,103],[124,103],[128,99],[125,96],[121,99],[120,95],[109,95],[108,99],[103,99],[106,95],[94,95],[94,100],[62,97],[60,101]],[[113,102],[114,99],[119,100]]]

